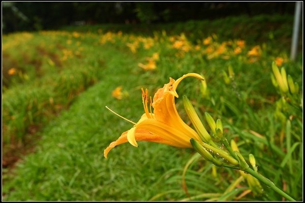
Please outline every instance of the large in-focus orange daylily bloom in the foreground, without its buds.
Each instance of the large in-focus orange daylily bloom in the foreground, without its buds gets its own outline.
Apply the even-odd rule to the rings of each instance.
[[[181,80],[189,76],[204,80],[202,76],[195,73],[186,74],[177,80],[170,78],[169,83],[156,92],[153,102],[151,97],[148,98],[147,89],[144,91],[142,88],[145,113],[130,130],[123,132],[116,141],[110,143],[104,150],[104,157],[107,158],[112,148],[126,142],[135,147],[138,147],[136,141],[148,141],[180,148],[192,148],[191,138],[201,141],[197,132],[180,118],[175,107],[175,97],[178,97],[176,88]],[[154,113],[151,112],[151,107],[154,108]]]

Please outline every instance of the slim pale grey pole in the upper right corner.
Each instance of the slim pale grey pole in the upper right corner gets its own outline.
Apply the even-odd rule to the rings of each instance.
[[[298,32],[299,32],[298,30],[299,30],[300,14],[301,14],[301,5],[302,5],[302,2],[296,2],[295,3],[293,33],[292,33],[291,52],[290,52],[290,59],[291,60],[295,60],[295,58],[296,58]]]

